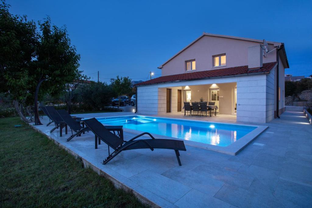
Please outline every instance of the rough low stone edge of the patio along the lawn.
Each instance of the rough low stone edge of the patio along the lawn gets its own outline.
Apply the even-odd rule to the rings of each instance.
[[[32,125],[32,123],[28,123],[35,131],[45,135],[48,139],[52,140],[57,146],[59,146],[60,148],[63,148],[64,150],[66,150],[68,153],[70,153],[71,155],[73,155],[74,157],[76,157],[77,159],[80,159],[81,162],[83,163],[83,167],[84,168],[91,168],[94,172],[96,172],[99,176],[101,177],[105,177],[107,179],[109,179],[110,181],[113,182],[113,185],[115,186],[115,188],[117,189],[123,189],[126,192],[131,192],[134,194],[134,196],[136,196],[139,201],[145,205],[148,205],[150,207],[155,207],[155,208],[160,208],[160,206],[158,206],[157,204],[155,204],[153,201],[150,201],[149,199],[147,199],[146,197],[142,196],[141,194],[139,194],[138,192],[134,191],[132,188],[126,186],[124,183],[122,183],[121,181],[118,181],[116,178],[110,176],[109,174],[105,173],[104,171],[102,171],[100,168],[96,167],[95,165],[93,165],[91,162],[89,162],[88,160],[86,160],[85,158],[81,157],[79,154],[77,154],[76,152],[70,150],[69,148],[65,147],[63,144],[59,143],[58,141],[56,141],[55,139],[53,139],[52,137],[46,135],[44,132],[42,132],[41,130],[37,129],[36,127],[34,127]]]

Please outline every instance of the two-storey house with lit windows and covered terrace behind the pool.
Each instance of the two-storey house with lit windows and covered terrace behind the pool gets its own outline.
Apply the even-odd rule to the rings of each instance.
[[[285,111],[284,43],[203,33],[158,68],[160,77],[136,85],[137,113],[183,112],[183,101],[200,98],[237,121],[266,123]]]

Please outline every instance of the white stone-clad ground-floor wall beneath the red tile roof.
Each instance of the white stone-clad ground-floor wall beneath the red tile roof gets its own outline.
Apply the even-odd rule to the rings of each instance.
[[[235,86],[233,82],[237,85],[237,121],[266,123],[274,118],[274,69],[270,74],[138,86],[138,113],[166,114],[166,88],[173,87],[171,112],[175,113],[177,112],[177,87],[230,82],[232,82],[229,86],[231,90]]]

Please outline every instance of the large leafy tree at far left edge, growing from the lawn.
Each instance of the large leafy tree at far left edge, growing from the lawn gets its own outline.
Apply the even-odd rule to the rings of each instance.
[[[33,99],[32,60],[36,57],[39,34],[36,23],[12,15],[5,1],[0,4],[0,92],[9,94],[19,116],[32,122],[29,107]],[[30,119],[26,119],[26,110]]]

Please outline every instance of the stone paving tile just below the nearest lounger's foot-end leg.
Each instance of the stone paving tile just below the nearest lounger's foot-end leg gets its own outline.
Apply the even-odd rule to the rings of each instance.
[[[214,196],[221,189],[224,182],[209,178],[192,171],[185,171],[181,167],[172,168],[162,174],[174,181],[178,181],[197,191],[201,191],[209,196]]]

